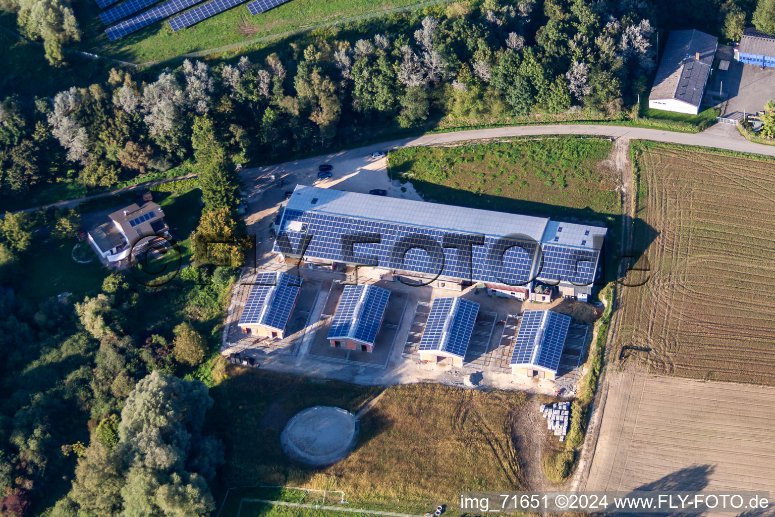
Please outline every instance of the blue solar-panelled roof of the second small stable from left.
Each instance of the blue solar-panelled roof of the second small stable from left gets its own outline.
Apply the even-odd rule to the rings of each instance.
[[[373,344],[390,291],[376,285],[347,285],[339,298],[328,339],[356,339]]]

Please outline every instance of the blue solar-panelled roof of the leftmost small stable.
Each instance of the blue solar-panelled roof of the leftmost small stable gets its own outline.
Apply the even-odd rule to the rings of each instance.
[[[288,273],[259,273],[238,325],[263,325],[284,331],[291,318],[300,283]]]

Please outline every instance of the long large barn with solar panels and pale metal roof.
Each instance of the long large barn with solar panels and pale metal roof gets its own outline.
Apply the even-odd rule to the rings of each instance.
[[[368,265],[406,283],[456,288],[484,282],[532,299],[536,281],[586,302],[606,229],[546,217],[381,198],[297,185],[274,252],[312,264]],[[422,249],[421,249],[422,248]]]

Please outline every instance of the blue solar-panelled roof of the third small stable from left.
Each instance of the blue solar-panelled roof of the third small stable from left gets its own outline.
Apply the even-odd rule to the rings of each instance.
[[[420,339],[420,352],[442,351],[465,357],[479,304],[463,298],[436,298],[433,300],[425,330]]]

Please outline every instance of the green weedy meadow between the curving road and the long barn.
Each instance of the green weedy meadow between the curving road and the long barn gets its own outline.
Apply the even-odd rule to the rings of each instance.
[[[618,243],[620,174],[612,164],[601,163],[611,153],[611,141],[538,138],[393,150],[387,155],[388,174],[412,181],[429,201],[602,224],[608,226],[611,243]],[[616,257],[606,256],[608,278],[615,274]]]

